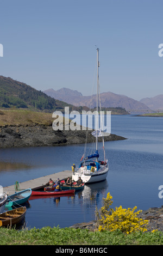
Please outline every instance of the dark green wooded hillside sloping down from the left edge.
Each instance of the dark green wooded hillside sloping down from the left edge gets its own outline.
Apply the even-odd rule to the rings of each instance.
[[[0,107],[28,108],[38,111],[64,111],[64,107],[74,107],[66,102],[55,100],[26,83],[18,82],[10,77],[0,76]]]

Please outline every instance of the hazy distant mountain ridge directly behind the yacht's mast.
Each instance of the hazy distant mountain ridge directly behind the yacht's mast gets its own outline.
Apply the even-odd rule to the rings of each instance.
[[[54,97],[54,99],[65,101],[74,106],[87,106],[89,108],[96,107],[96,95],[83,96],[82,93],[77,92],[77,90],[67,88],[62,88],[60,90],[49,89],[45,90],[44,93]],[[127,111],[131,109],[136,111],[150,111],[150,108],[142,102],[131,99],[130,97],[124,95],[118,95],[110,92],[101,93],[101,103],[102,107],[122,107]]]

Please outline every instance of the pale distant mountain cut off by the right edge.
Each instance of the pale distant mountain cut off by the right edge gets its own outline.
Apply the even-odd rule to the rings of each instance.
[[[151,98],[144,98],[142,100],[140,100],[141,103],[147,105],[149,108],[151,108],[152,110],[158,110],[158,109],[163,109],[163,95],[160,94],[158,96],[155,97],[151,97]]]

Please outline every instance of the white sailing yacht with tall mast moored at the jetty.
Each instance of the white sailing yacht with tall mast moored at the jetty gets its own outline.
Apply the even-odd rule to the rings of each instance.
[[[97,113],[98,113],[98,98],[99,98],[99,48],[97,48]],[[99,94],[99,95],[98,95]],[[108,175],[108,160],[105,159],[105,149],[104,149],[104,138],[103,138],[103,149],[104,149],[104,160],[99,160],[98,154],[98,137],[103,137],[103,132],[101,129],[98,129],[98,114],[96,118],[96,130],[92,132],[92,136],[96,137],[96,151],[94,154],[89,156],[82,157],[83,161],[80,163],[79,168],[75,168],[72,166],[73,174],[72,180],[77,181],[79,177],[86,184],[98,182],[106,179]],[[81,160],[82,160],[81,159]],[[93,160],[96,159],[96,160]],[[81,161],[80,160],[80,161]]]

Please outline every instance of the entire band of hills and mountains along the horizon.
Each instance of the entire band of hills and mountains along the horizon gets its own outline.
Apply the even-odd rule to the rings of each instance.
[[[101,93],[103,108],[123,108],[126,111],[152,112],[163,109],[163,95],[145,98],[140,101],[125,95],[111,92]],[[48,89],[43,92],[30,87],[26,83],[13,80],[10,77],[0,76],[0,107],[1,108],[28,108],[38,111],[64,111],[69,106],[70,111],[82,112],[96,107],[96,95],[83,96],[77,90],[61,88]]]

